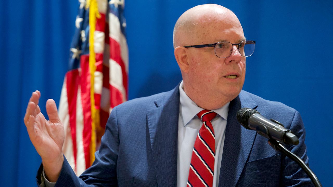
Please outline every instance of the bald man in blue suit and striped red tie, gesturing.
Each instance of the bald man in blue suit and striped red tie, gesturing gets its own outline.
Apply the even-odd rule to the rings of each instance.
[[[222,6],[199,5],[179,17],[173,38],[183,81],[169,92],[115,107],[96,160],[80,178],[62,153],[64,129],[55,102],[46,103],[50,119],[46,121],[38,107],[40,93],[32,94],[24,121],[42,158],[38,182],[44,185],[48,180],[55,186],[312,186],[296,163],[236,121],[241,107],[256,108],[280,121],[300,141],[288,148],[308,163],[299,113],[241,91],[245,57],[252,55],[255,42],[246,41],[238,18]],[[205,120],[202,110],[216,112],[216,117]],[[205,141],[207,134],[213,141]],[[201,148],[206,146],[207,154],[197,148],[199,143]]]

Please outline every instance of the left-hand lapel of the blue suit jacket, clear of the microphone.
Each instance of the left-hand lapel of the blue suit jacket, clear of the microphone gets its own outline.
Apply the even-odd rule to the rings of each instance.
[[[155,101],[147,122],[158,186],[176,186],[179,85],[168,98]]]

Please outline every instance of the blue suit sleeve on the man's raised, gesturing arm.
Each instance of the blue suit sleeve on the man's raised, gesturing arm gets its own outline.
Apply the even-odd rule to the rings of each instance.
[[[95,153],[95,161],[91,167],[77,177],[71,166],[64,159],[63,167],[55,187],[101,187],[118,186],[117,184],[117,159],[119,152],[119,136],[117,123],[117,107],[115,107],[108,119],[105,133],[102,137],[101,147]],[[37,173],[37,183],[40,184],[42,166]]]

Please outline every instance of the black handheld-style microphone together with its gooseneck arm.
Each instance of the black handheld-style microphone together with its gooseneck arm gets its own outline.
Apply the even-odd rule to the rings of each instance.
[[[310,177],[312,183],[316,187],[322,187],[317,176],[303,162],[303,160],[282,145],[281,142],[293,145],[299,143],[298,138],[291,132],[291,130],[284,128],[284,126],[278,121],[266,119],[257,110],[251,108],[241,108],[238,110],[236,117],[238,122],[246,129],[255,130],[258,134],[268,138],[268,144],[271,147],[295,161]]]

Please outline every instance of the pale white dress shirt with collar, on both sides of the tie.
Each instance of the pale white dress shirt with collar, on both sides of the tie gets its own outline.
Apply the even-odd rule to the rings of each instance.
[[[196,114],[203,110],[203,108],[196,105],[186,95],[183,90],[183,82],[180,83],[179,93],[177,187],[186,187],[194,142],[203,124]],[[218,186],[229,104],[230,102],[221,108],[212,110],[218,114],[211,120],[215,134],[213,186]]]

